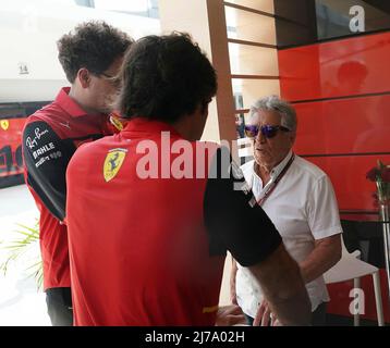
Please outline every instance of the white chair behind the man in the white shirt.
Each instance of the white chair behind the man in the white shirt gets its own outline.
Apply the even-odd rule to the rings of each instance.
[[[341,238],[342,240],[342,238]],[[361,277],[365,275],[373,276],[374,283],[374,293],[375,293],[375,303],[377,308],[377,318],[378,325],[383,326],[383,308],[382,308],[382,297],[380,290],[380,278],[379,278],[379,269],[359,260],[361,251],[355,250],[349,252],[342,240],[342,256],[341,260],[334,264],[328,272],[324,274],[325,283],[340,283],[353,279],[354,288],[361,287]],[[354,314],[354,326],[359,325],[359,315]]]

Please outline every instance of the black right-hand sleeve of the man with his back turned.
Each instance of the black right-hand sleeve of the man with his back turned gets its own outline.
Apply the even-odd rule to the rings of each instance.
[[[217,150],[210,166],[204,216],[210,254],[229,250],[243,266],[265,260],[282,241],[226,148]]]

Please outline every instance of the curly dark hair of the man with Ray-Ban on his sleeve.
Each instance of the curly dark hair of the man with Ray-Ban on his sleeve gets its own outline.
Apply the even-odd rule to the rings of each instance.
[[[127,34],[102,21],[85,22],[58,40],[58,59],[68,80],[73,84],[80,69],[100,75],[132,42]]]

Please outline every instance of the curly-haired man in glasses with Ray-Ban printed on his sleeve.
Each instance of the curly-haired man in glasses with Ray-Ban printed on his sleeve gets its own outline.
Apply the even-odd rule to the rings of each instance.
[[[76,148],[113,133],[108,122],[113,78],[132,44],[103,22],[78,25],[58,41],[70,88],[27,119],[23,130],[25,179],[40,211],[44,288],[52,325],[72,325],[65,215],[65,171]]]

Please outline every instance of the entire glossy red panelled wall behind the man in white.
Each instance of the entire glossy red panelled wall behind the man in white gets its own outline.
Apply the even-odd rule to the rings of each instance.
[[[390,164],[390,32],[284,49],[278,55],[281,96],[293,102],[298,117],[294,150],[328,173],[341,210],[375,211],[376,186],[366,173],[378,159]],[[383,270],[381,281],[389,322]],[[371,283],[370,277],[362,282],[365,318],[376,320]],[[351,288],[350,283],[329,286],[330,313],[351,315]]]

